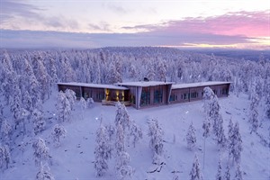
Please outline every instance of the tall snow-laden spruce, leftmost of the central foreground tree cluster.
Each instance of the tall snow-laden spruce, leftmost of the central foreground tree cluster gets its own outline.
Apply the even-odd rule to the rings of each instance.
[[[95,133],[94,169],[96,176],[102,176],[107,169],[108,159],[112,157],[112,147],[106,128],[101,124]]]

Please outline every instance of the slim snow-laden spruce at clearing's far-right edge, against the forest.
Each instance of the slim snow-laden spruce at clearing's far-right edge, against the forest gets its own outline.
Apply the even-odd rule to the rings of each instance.
[[[250,123],[250,134],[252,132],[257,132],[257,128],[259,126],[258,122],[258,112],[257,106],[259,103],[259,98],[257,94],[253,94],[251,98],[250,108],[249,108],[249,123]]]

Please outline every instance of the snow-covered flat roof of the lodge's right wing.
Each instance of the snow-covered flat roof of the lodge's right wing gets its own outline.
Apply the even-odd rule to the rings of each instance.
[[[208,81],[208,82],[201,82],[201,83],[188,83],[188,84],[176,84],[172,85],[172,89],[182,89],[188,87],[199,87],[199,86],[208,86],[208,85],[227,85],[230,82],[221,82],[221,81]]]

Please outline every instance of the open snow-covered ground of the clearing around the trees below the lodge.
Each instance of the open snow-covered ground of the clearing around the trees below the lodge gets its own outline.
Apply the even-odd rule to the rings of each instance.
[[[219,99],[222,117],[224,120],[225,133],[229,119],[238,121],[240,133],[243,140],[243,151],[241,167],[244,171],[243,179],[263,180],[270,178],[270,150],[264,146],[262,139],[257,134],[249,133],[247,95],[241,94],[239,97],[229,95],[228,98]],[[46,139],[49,146],[51,173],[56,180],[89,180],[89,179],[115,179],[114,159],[109,162],[108,172],[101,178],[94,176],[94,140],[95,130],[100,121],[97,117],[103,116],[103,124],[112,124],[115,118],[114,106],[103,106],[95,103],[94,108],[82,112],[77,106],[73,112],[72,120],[64,124],[67,129],[67,137],[62,139],[61,147],[54,148],[51,141],[52,124],[55,124],[53,113],[55,113],[56,93],[45,103],[45,116],[48,120],[48,129],[40,133],[40,137]],[[204,113],[202,111],[202,101],[193,103],[179,103],[143,110],[136,110],[128,107],[130,117],[139,124],[143,130],[143,139],[139,141],[136,148],[127,148],[130,154],[130,166],[135,168],[133,179],[172,179],[172,171],[176,171],[179,179],[189,179],[189,173],[193,164],[194,153],[198,154],[201,167],[203,164],[203,138],[202,121]],[[152,165],[152,154],[148,148],[148,117],[157,118],[161,128],[165,131],[165,165],[160,172],[148,173],[157,166]],[[52,124],[49,124],[52,121]],[[191,121],[196,129],[197,148],[190,151],[186,146],[185,135]],[[258,133],[269,142],[269,123],[263,121],[263,127]],[[175,142],[174,142],[175,136]],[[211,136],[212,137],[212,136]],[[204,179],[215,179],[218,170],[219,150],[212,138],[206,141],[205,166],[202,169]],[[12,167],[1,172],[2,180],[34,179],[38,172],[38,167],[34,165],[33,149],[31,141],[34,137],[17,139],[16,148],[12,151]],[[228,161],[228,153],[221,152],[222,174]],[[230,174],[234,176],[235,166],[230,166]]]

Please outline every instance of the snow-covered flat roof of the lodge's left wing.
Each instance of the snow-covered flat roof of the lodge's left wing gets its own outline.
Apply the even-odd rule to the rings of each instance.
[[[129,88],[118,86],[118,85],[101,85],[101,84],[88,84],[88,83],[58,83],[58,85],[72,85],[72,86],[84,86],[84,87],[94,87],[94,88],[104,88],[104,89],[116,89],[116,90],[128,90]]]

